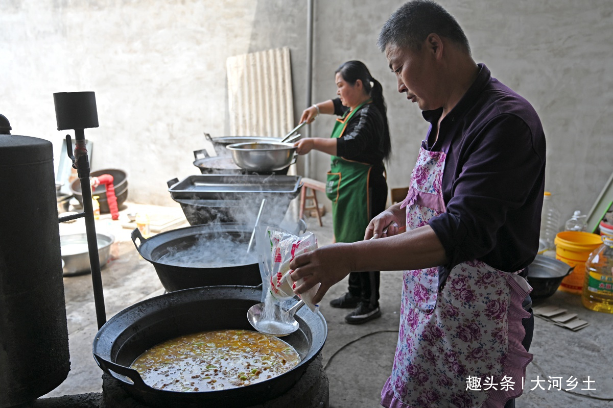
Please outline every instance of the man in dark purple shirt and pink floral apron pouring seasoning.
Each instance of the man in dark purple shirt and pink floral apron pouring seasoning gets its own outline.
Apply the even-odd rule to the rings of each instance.
[[[321,282],[317,302],[349,271],[404,270],[381,405],[514,406],[532,358],[524,276],[543,204],[540,119],[473,61],[457,21],[432,1],[400,7],[378,45],[398,91],[430,122],[408,195],[373,218],[364,241],[296,257],[292,279],[306,281],[296,292]]]

